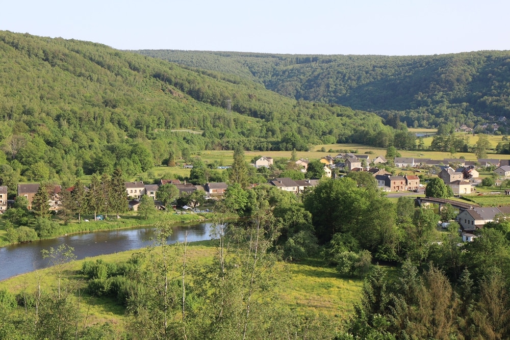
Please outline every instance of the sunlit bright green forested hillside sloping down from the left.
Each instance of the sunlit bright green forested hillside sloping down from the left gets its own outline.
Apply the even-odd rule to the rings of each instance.
[[[296,101],[237,75],[7,31],[0,117],[2,179],[61,183],[116,166],[134,175],[194,150],[307,150],[388,131],[374,114]],[[172,131],[183,128],[202,133]]]

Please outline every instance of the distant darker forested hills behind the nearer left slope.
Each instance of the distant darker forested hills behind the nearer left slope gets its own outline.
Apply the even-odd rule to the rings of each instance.
[[[510,51],[405,57],[137,52],[254,78],[296,99],[337,103],[383,117],[398,113],[408,126],[510,117]]]

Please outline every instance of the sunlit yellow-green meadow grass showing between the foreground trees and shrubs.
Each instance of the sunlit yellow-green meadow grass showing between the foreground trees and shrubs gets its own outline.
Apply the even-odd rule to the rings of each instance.
[[[66,270],[70,279],[78,282],[82,293],[81,309],[87,315],[87,324],[111,322],[122,324],[124,307],[108,298],[89,296],[85,292],[86,283],[78,271],[86,260],[102,259],[105,262],[127,260],[132,254],[143,250],[131,250],[111,255],[101,255],[74,261]],[[195,265],[210,263],[216,254],[214,241],[190,243],[186,258],[189,268]],[[346,317],[353,311],[353,305],[361,297],[363,280],[348,278],[338,274],[335,268],[324,266],[321,259],[308,259],[302,263],[277,262],[274,267],[276,299],[275,307],[297,310],[299,313],[321,313],[327,317]],[[390,273],[395,269],[389,269]],[[44,291],[52,289],[56,278],[52,268],[22,274],[0,281],[0,290],[11,293],[35,292],[38,282]]]

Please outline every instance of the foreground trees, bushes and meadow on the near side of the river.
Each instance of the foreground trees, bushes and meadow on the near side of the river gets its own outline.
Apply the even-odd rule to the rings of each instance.
[[[46,284],[29,279],[0,290],[0,338],[509,336],[505,219],[462,244],[458,225],[438,231],[433,210],[406,197],[391,203],[373,177],[362,176],[322,180],[302,203],[267,185],[232,186],[215,207],[216,225],[232,213],[243,221],[220,228],[214,246],[198,255],[186,242],[166,245],[165,223],[157,247],[129,259],[87,260],[79,271],[63,260],[72,258],[69,249],[48,250],[56,266]],[[388,271],[378,261],[399,269]],[[323,287],[340,300],[326,294],[324,304],[299,293],[307,284],[284,274],[289,268],[307,272],[316,294],[326,294]],[[349,277],[358,279],[338,290]],[[110,321],[89,316],[98,303],[116,306]]]

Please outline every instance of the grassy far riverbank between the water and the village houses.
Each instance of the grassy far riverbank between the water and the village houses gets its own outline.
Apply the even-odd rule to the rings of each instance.
[[[49,240],[56,239],[62,236],[79,234],[84,232],[95,232],[95,231],[107,231],[107,230],[116,230],[116,229],[127,229],[127,228],[136,228],[136,227],[145,227],[145,226],[153,226],[157,223],[168,223],[168,224],[178,224],[178,223],[190,223],[190,222],[202,222],[212,219],[214,213],[200,213],[200,214],[175,214],[175,213],[166,213],[166,212],[158,212],[156,215],[149,217],[148,219],[140,219],[138,216],[132,215],[121,215],[119,219],[116,218],[115,215],[110,215],[108,220],[103,221],[94,221],[93,216],[86,216],[82,218],[82,222],[78,223],[78,221],[69,223],[67,225],[59,224],[59,228],[53,230],[52,236],[37,238],[36,240]],[[89,218],[90,220],[86,222],[85,220]],[[57,221],[55,221],[57,222]],[[8,245],[16,244],[17,242],[9,242],[7,238],[7,232],[4,228],[0,229],[0,247],[5,247]]]

